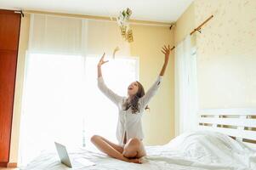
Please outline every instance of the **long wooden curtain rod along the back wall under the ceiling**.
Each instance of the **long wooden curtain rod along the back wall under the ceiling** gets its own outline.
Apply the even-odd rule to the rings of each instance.
[[[85,15],[85,14],[65,14],[65,13],[55,13],[48,11],[37,11],[37,10],[23,10],[24,14],[50,14],[50,15],[58,15],[58,16],[66,16],[72,18],[83,18],[89,20],[106,20],[106,21],[117,21],[116,18],[105,17],[105,16],[94,16],[94,15]],[[148,26],[172,26],[173,23],[168,22],[157,22],[150,20],[130,20],[131,25],[148,25]]]

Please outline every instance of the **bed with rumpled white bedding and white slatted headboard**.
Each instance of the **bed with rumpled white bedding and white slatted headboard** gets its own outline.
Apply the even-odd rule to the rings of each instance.
[[[255,170],[256,110],[221,109],[198,111],[198,130],[183,133],[168,144],[145,146],[143,164],[113,159],[94,148],[72,151],[73,158],[85,157],[94,170]],[[60,164],[56,153],[44,152],[21,169],[70,169]]]

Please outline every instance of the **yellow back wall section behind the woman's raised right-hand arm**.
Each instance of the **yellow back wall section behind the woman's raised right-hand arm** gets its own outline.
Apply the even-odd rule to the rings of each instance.
[[[163,44],[174,44],[174,33],[168,27],[132,26],[134,42],[131,55],[139,56],[139,77],[145,89],[151,87],[160,73],[164,56]],[[162,87],[143,117],[145,144],[166,144],[174,138],[174,54],[171,54]]]

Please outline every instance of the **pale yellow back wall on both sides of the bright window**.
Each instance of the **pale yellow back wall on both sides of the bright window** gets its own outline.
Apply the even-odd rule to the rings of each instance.
[[[10,162],[18,160],[20,135],[20,112],[25,69],[25,56],[28,46],[30,15],[22,18],[20,30],[20,48],[15,87],[14,117],[12,127]],[[134,42],[131,55],[139,56],[139,77],[145,89],[151,87],[161,71],[163,54],[160,49],[164,44],[174,44],[174,33],[168,26],[132,26]],[[174,56],[171,56],[162,87],[151,100],[150,112],[143,117],[145,144],[166,144],[174,138]]]

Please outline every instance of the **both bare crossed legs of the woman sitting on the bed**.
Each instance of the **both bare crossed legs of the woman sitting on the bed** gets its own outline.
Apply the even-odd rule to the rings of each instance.
[[[129,139],[124,147],[114,144],[111,141],[94,135],[91,142],[108,156],[117,158],[122,161],[141,163],[139,158],[145,156],[145,148],[139,139]]]

